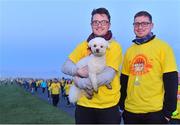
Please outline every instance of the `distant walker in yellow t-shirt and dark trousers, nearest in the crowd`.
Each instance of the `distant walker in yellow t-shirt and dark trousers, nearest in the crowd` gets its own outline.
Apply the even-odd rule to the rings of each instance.
[[[49,87],[49,91],[51,92],[53,106],[57,107],[57,104],[59,102],[59,93],[60,93],[60,84],[58,83],[57,79],[55,79],[51,83],[51,86]]]

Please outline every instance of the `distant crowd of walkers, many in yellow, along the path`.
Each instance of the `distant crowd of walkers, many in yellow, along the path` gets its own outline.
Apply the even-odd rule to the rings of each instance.
[[[47,96],[48,101],[52,100],[53,106],[57,107],[59,98],[66,100],[66,105],[69,102],[69,89],[73,83],[70,78],[53,78],[53,79],[34,79],[34,78],[16,78],[16,79],[1,79],[0,85],[17,84],[24,88],[32,95],[38,91]]]

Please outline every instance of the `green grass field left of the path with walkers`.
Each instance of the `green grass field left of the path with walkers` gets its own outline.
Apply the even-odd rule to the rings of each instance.
[[[66,112],[17,85],[0,86],[0,124],[74,124]]]

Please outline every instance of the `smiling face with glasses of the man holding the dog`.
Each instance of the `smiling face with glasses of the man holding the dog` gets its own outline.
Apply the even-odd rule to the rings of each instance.
[[[109,28],[110,22],[106,14],[95,14],[91,22],[92,31],[97,36],[105,35]]]

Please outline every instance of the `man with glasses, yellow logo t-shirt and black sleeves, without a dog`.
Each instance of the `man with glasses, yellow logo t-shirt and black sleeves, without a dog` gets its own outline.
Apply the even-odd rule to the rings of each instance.
[[[165,124],[176,110],[178,73],[172,48],[152,32],[151,15],[134,16],[134,44],[121,73],[120,107],[125,124]]]

